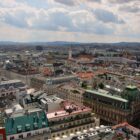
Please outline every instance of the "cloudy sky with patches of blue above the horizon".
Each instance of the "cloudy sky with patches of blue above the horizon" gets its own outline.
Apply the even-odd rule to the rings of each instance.
[[[0,41],[140,42],[140,0],[0,0]]]

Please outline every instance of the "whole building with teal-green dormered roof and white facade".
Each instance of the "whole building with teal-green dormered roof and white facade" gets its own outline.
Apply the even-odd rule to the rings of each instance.
[[[48,140],[50,137],[48,120],[42,110],[8,114],[5,129],[7,140]]]

